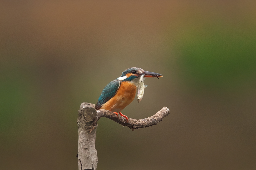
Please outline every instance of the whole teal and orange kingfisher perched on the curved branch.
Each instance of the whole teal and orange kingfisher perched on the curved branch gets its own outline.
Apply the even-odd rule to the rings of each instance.
[[[162,74],[144,71],[138,67],[127,68],[122,72],[121,77],[118,77],[106,85],[95,105],[95,109],[109,110],[114,112],[117,116],[120,114],[125,117],[128,122],[128,117],[123,115],[121,111],[133,101],[136,94],[136,84],[143,74],[144,77],[163,77]]]

